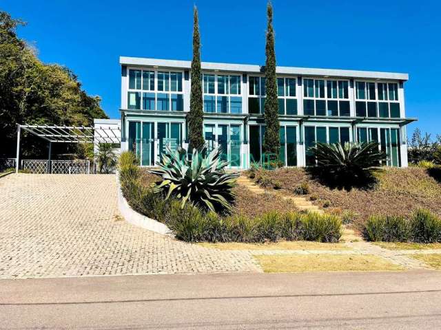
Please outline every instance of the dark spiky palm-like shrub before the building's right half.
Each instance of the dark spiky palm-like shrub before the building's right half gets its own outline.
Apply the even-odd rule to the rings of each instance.
[[[309,150],[317,159],[318,173],[322,178],[346,187],[369,182],[371,171],[387,159],[376,142],[318,142]]]

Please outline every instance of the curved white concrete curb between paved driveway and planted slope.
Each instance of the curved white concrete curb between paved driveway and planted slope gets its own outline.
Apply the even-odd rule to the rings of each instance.
[[[150,219],[149,217],[145,217],[145,215],[136,212],[130,207],[129,203],[123,196],[123,192],[119,184],[118,173],[116,173],[116,186],[118,188],[119,212],[121,212],[121,215],[124,217],[125,221],[132,223],[132,225],[151,230],[152,232],[157,232],[158,234],[170,235],[171,231],[167,225],[154,219]]]

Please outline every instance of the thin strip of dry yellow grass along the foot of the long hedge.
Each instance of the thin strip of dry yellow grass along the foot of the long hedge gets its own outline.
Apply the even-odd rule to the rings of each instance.
[[[277,243],[198,243],[218,250],[350,250],[342,243],[280,241]]]

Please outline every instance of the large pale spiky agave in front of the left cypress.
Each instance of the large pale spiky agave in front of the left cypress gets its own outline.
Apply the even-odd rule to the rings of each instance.
[[[184,148],[175,151],[166,146],[157,170],[150,173],[162,177],[154,185],[154,192],[165,192],[165,199],[175,197],[181,199],[181,207],[191,202],[208,210],[231,210],[234,201],[232,188],[236,186],[239,173],[225,173],[230,162],[221,158],[220,148],[206,153],[207,145],[201,150],[194,148],[192,157]]]

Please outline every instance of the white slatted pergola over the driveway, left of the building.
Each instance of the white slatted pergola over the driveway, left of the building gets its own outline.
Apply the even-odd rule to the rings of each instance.
[[[17,124],[17,155],[15,171],[19,172],[20,136],[21,130],[41,137],[49,143],[49,162],[51,160],[52,143],[121,143],[121,128],[119,126],[58,126],[58,125],[29,125]]]

